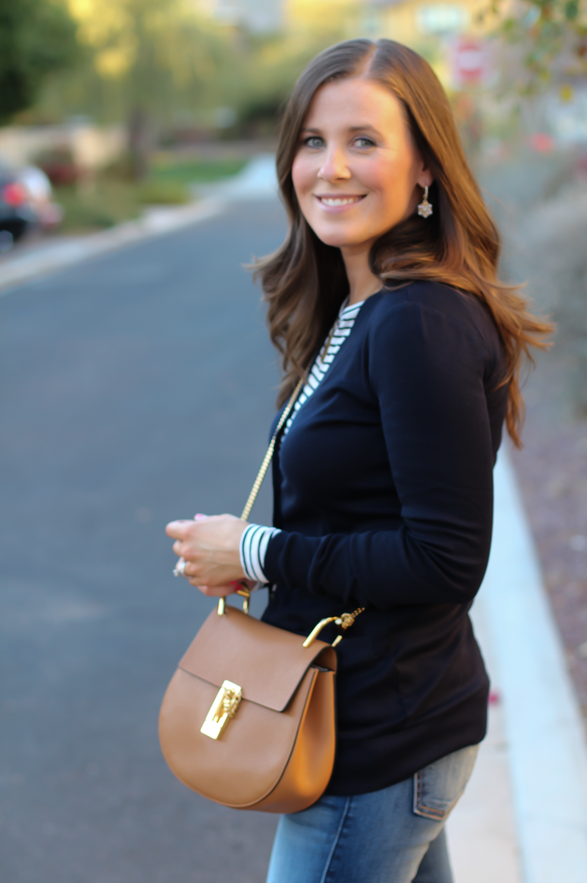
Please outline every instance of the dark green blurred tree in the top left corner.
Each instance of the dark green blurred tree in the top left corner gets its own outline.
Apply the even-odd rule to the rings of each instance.
[[[58,0],[0,0],[0,124],[31,107],[48,75],[77,58],[75,22]]]

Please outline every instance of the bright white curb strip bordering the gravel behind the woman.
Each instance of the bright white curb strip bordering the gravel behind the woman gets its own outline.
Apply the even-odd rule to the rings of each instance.
[[[587,880],[587,746],[516,477],[502,449],[494,539],[476,603],[490,632],[524,883]]]

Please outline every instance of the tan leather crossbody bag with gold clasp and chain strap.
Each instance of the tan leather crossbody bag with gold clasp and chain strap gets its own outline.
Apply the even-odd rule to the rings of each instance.
[[[279,433],[279,419],[241,518],[247,520]],[[159,717],[161,751],[172,773],[204,797],[240,810],[297,812],[322,796],[334,766],[336,720],[332,649],[351,614],[323,619],[305,640],[224,599],[206,619],[171,679]],[[317,640],[328,623],[332,645]]]

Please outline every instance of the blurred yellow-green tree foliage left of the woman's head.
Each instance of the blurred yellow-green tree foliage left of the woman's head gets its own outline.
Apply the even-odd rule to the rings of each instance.
[[[5,0],[0,0],[0,3]],[[92,5],[93,4],[93,5]],[[191,12],[186,12],[186,5]],[[140,110],[151,140],[176,127],[212,130],[232,109],[228,136],[274,128],[278,109],[311,57],[344,34],[251,34],[197,15],[189,0],[88,0],[85,56],[76,76],[52,81],[40,116],[129,122]]]

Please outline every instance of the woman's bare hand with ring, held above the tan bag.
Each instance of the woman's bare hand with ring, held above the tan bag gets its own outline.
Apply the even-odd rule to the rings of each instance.
[[[189,583],[204,595],[224,598],[245,579],[239,547],[247,526],[234,515],[199,515],[194,521],[171,521],[165,530],[175,540],[175,555],[186,562],[183,576]]]

